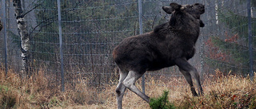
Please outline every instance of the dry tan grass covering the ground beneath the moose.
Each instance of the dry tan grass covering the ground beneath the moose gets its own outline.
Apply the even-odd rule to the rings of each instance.
[[[223,76],[218,70],[215,73],[203,82],[203,96],[193,97],[182,77],[170,81],[152,78],[146,81],[146,95],[158,97],[164,90],[169,90],[169,100],[176,108],[256,108],[256,77],[251,82],[241,76]],[[0,108],[117,108],[115,85],[106,85],[99,92],[97,88],[85,84],[86,80],[78,80],[74,89],[62,92],[58,87],[50,87],[46,78],[43,71],[29,79],[21,79],[12,71],[6,77],[5,72],[0,71]],[[138,95],[126,91],[123,108],[145,109],[150,106]]]

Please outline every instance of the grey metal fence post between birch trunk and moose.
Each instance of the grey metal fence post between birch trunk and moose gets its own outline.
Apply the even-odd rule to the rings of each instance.
[[[60,51],[60,60],[61,60],[61,76],[62,76],[62,91],[65,91],[64,84],[64,65],[63,65],[63,49],[62,49],[62,16],[61,16],[61,2],[57,0],[58,4],[58,37],[59,37],[59,51]]]

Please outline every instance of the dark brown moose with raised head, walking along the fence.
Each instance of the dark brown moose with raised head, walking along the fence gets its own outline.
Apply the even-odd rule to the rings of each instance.
[[[202,86],[198,71],[188,60],[194,56],[195,43],[198,40],[200,27],[204,23],[200,15],[205,13],[201,3],[179,5],[172,2],[162,6],[170,21],[157,25],[153,31],[123,39],[114,48],[113,58],[118,65],[120,78],[116,88],[118,108],[122,108],[122,98],[126,88],[150,103],[150,97],[139,91],[134,85],[146,71],[177,65],[180,72],[190,84],[194,96],[202,95]],[[195,91],[192,77],[198,87]]]

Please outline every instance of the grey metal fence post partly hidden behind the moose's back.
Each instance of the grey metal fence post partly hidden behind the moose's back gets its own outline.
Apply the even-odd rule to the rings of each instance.
[[[138,0],[138,23],[139,34],[142,34],[142,0]],[[142,76],[142,92],[145,93],[145,76]]]

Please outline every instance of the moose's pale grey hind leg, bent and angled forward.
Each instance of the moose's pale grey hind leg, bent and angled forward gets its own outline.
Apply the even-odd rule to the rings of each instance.
[[[139,91],[138,88],[134,85],[136,80],[138,80],[142,75],[143,73],[130,71],[128,76],[126,76],[126,79],[123,80],[122,84],[125,85],[126,88],[129,88],[130,91],[133,91],[135,94],[144,99],[147,103],[150,103],[150,97],[142,93],[142,91]]]

